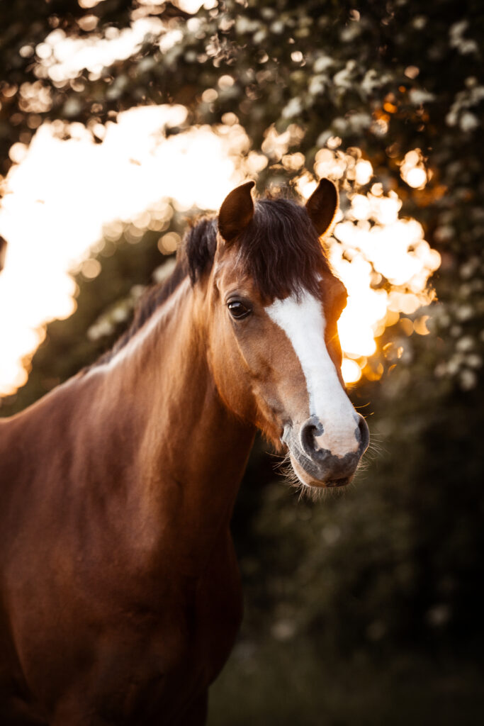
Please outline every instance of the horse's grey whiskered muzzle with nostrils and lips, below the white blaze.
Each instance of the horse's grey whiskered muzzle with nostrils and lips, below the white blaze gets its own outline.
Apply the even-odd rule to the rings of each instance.
[[[308,418],[300,427],[286,425],[282,436],[296,476],[305,486],[318,487],[345,486],[353,478],[369,444],[368,426],[360,414],[355,414],[347,439],[350,450],[346,452],[342,452],[341,445],[337,453],[325,448],[324,426],[316,416]]]

